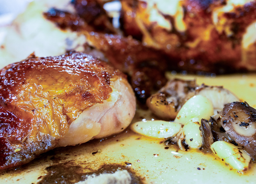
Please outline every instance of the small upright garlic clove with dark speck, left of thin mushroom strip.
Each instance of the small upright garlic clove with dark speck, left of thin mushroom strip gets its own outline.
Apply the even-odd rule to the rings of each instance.
[[[189,148],[200,148],[203,145],[203,139],[201,136],[201,131],[199,129],[199,122],[188,122],[183,126],[183,131],[185,134],[185,142]]]

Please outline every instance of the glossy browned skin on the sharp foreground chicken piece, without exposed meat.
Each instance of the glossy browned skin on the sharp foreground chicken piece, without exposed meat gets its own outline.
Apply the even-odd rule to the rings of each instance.
[[[0,169],[56,147],[83,110],[108,99],[123,74],[83,53],[37,58],[0,71]]]

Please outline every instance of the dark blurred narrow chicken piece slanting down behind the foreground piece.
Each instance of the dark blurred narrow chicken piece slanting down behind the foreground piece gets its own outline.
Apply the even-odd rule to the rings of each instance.
[[[103,53],[117,69],[130,76],[130,83],[136,96],[140,102],[145,103],[151,91],[159,89],[167,81],[164,76],[164,70],[167,68],[165,56],[161,54],[161,51],[145,47],[140,41],[132,37],[102,33],[113,33],[114,31],[111,31],[107,25],[104,29],[99,30],[97,26],[90,23],[91,16],[86,13],[87,8],[92,11],[92,4],[95,4],[94,8],[98,7],[98,9],[96,8],[98,11],[102,11],[99,8],[99,2],[88,1],[91,5],[90,3],[87,4],[89,6],[87,8],[87,5],[82,5],[81,1],[75,2],[76,14],[51,9],[44,13],[44,17],[61,29],[70,29],[84,34],[93,49]],[[84,14],[82,14],[83,8]],[[99,12],[100,17],[103,16],[104,12]],[[87,49],[86,46],[85,50]],[[158,60],[161,62],[157,62]]]

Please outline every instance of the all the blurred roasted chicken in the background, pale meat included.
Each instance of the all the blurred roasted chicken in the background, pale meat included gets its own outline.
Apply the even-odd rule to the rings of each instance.
[[[256,71],[255,0],[121,0],[120,28],[105,1],[65,0],[65,8],[43,2],[35,0],[13,22],[0,64],[34,51],[40,57],[86,52],[128,74],[143,103],[165,84],[166,70]]]

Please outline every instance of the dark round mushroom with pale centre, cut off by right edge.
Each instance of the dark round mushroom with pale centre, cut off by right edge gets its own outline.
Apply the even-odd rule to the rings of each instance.
[[[246,102],[226,105],[221,124],[228,135],[256,160],[256,110]]]

